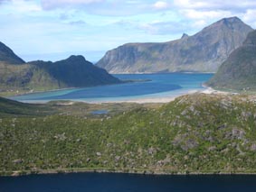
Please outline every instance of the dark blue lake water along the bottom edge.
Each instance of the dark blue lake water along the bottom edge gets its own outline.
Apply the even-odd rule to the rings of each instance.
[[[0,178],[1,192],[256,191],[256,176],[144,176],[76,173]]]

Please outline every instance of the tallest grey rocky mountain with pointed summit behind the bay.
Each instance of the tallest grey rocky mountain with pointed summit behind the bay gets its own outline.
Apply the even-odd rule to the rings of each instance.
[[[128,43],[109,50],[97,66],[110,73],[214,72],[252,29],[237,17],[163,43]]]

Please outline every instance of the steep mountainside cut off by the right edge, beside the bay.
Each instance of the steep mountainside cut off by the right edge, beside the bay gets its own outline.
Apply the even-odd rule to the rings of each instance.
[[[256,31],[250,32],[242,46],[232,51],[207,85],[219,89],[256,90]]]

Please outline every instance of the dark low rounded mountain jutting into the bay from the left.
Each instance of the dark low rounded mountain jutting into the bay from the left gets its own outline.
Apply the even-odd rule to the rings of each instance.
[[[45,84],[58,88],[92,87],[120,83],[118,78],[94,66],[83,56],[71,56],[56,62],[38,60],[29,64],[33,69],[30,85],[34,87],[43,87]]]

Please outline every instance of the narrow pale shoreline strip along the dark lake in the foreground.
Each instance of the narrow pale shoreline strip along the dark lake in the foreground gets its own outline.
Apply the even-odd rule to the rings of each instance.
[[[16,170],[0,171],[0,177],[20,177],[29,175],[52,175],[52,174],[71,174],[71,173],[113,173],[113,174],[136,174],[150,176],[239,176],[256,175],[256,171],[193,171],[193,170],[154,170],[154,169],[111,169],[111,168],[77,168],[77,169],[38,169],[38,170]]]

